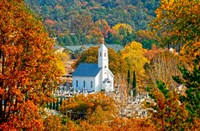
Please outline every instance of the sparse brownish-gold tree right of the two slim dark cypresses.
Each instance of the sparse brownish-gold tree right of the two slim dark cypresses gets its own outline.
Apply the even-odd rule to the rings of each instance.
[[[150,85],[156,86],[156,81],[163,81],[171,90],[176,90],[178,84],[172,76],[181,76],[177,65],[180,63],[179,56],[170,51],[163,51],[154,55],[150,63],[146,66]]]

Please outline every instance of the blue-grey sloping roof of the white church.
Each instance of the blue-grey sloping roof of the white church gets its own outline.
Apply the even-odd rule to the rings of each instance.
[[[94,77],[99,73],[100,70],[101,68],[98,67],[98,64],[80,63],[73,73],[73,76]]]

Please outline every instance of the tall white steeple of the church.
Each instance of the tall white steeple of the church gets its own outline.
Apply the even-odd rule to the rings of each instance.
[[[107,70],[108,69],[108,49],[104,44],[98,50],[98,67]]]

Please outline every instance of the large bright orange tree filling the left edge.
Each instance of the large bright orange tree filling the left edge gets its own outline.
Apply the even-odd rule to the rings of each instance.
[[[54,41],[22,0],[1,0],[0,15],[0,129],[41,130],[61,75]]]

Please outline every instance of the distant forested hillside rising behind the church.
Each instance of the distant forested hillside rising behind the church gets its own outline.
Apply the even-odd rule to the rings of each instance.
[[[134,39],[138,30],[149,30],[148,24],[154,19],[160,0],[25,0],[25,3],[61,45],[103,41],[125,45],[127,42],[123,43],[112,27],[118,23],[130,25],[133,32],[128,35],[134,33],[131,38]],[[118,41],[106,40],[110,37],[108,33]]]

